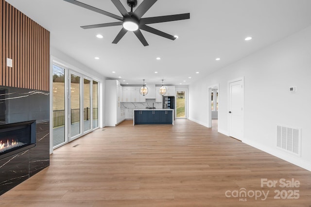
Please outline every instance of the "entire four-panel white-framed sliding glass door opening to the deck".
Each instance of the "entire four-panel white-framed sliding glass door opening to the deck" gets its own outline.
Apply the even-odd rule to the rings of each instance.
[[[99,127],[99,82],[53,64],[53,148]]]

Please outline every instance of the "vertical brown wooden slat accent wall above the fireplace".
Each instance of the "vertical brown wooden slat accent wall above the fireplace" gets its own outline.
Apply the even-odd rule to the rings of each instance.
[[[5,0],[0,11],[0,86],[49,91],[50,32]]]

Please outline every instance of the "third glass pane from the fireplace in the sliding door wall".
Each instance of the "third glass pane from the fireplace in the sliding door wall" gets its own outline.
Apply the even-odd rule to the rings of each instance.
[[[83,127],[84,131],[91,129],[91,81],[84,79],[83,84]]]

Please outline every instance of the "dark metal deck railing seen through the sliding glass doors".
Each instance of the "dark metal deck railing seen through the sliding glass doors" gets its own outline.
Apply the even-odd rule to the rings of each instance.
[[[90,119],[90,108],[86,107],[83,109],[84,120]],[[71,124],[80,121],[80,109],[70,110]],[[93,119],[98,119],[98,108],[93,108]],[[53,111],[53,127],[60,127],[65,125],[65,110]]]

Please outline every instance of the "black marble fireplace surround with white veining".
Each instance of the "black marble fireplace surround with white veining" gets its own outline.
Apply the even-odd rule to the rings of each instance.
[[[36,146],[0,159],[0,195],[50,165],[50,94],[0,86],[0,125],[35,120]]]

